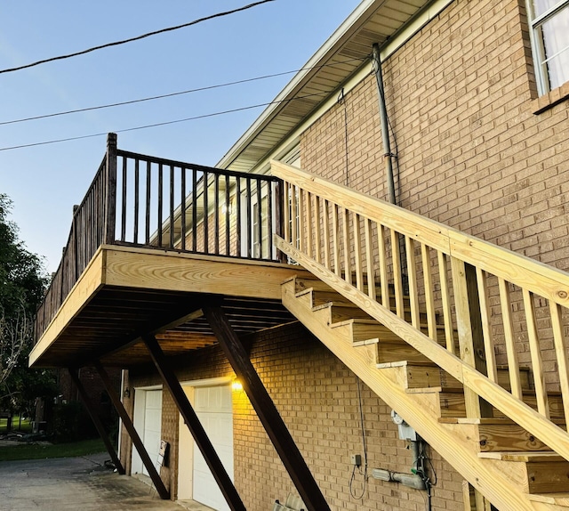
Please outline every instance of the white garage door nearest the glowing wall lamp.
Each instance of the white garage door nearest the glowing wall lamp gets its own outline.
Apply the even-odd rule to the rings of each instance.
[[[233,406],[231,387],[196,387],[197,417],[233,481]],[[194,448],[194,500],[218,511],[229,509],[197,446]]]

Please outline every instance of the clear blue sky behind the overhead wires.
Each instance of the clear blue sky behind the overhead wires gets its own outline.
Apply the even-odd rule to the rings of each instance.
[[[251,0],[3,0],[0,69],[249,4]],[[194,27],[0,74],[0,123],[300,69],[359,0],[276,0]],[[107,133],[274,99],[287,75],[114,109],[0,125],[0,149]],[[215,165],[262,109],[118,134],[124,150]],[[0,192],[28,249],[60,261],[78,204],[105,151],[105,137],[0,150]]]

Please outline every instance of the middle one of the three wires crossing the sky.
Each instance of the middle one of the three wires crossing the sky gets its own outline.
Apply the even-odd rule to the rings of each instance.
[[[27,122],[27,121],[34,121],[37,119],[44,119],[44,118],[54,118],[54,117],[58,117],[58,116],[66,116],[69,114],[76,114],[79,112],[87,112],[87,111],[91,111],[91,110],[102,110],[102,109],[108,109],[108,108],[113,108],[113,107],[120,107],[120,106],[124,106],[124,105],[131,105],[133,103],[140,103],[143,101],[154,101],[154,100],[161,100],[164,98],[171,98],[173,96],[180,96],[182,94],[188,94],[188,93],[198,93],[198,92],[202,92],[202,91],[209,91],[212,89],[219,89],[221,87],[228,87],[230,85],[239,85],[239,84],[246,84],[249,82],[255,82],[258,80],[264,80],[267,78],[274,78],[274,77],[282,77],[284,75],[292,75],[293,73],[298,73],[300,71],[305,71],[305,70],[310,70],[310,69],[322,69],[322,68],[326,68],[326,67],[333,67],[333,66],[339,66],[341,64],[345,64],[345,63],[349,63],[352,61],[365,61],[367,59],[367,56],[364,58],[360,58],[360,59],[349,59],[347,61],[337,61],[337,62],[333,62],[332,64],[322,64],[320,66],[312,66],[309,68],[301,68],[301,69],[293,69],[291,71],[283,71],[281,73],[273,73],[271,75],[264,75],[262,77],[252,77],[252,78],[244,78],[243,80],[236,80],[233,82],[226,82],[224,84],[217,84],[217,85],[206,85],[204,87],[197,87],[196,89],[188,89],[186,91],[179,91],[176,93],[166,93],[166,94],[160,94],[160,95],[156,95],[156,96],[149,96],[146,98],[139,98],[136,100],[129,100],[129,101],[120,101],[120,102],[116,102],[116,103],[108,103],[108,104],[104,104],[104,105],[97,105],[94,107],[85,107],[82,109],[76,109],[76,110],[65,110],[65,111],[61,111],[61,112],[54,112],[51,114],[44,114],[41,116],[34,116],[34,117],[30,117],[30,118],[20,118],[20,119],[12,119],[9,121],[0,121],[0,126],[5,126],[5,125],[11,125],[11,124],[16,124],[16,123],[23,123],[23,122]]]

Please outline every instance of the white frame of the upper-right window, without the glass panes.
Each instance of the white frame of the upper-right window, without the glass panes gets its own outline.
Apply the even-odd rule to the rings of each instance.
[[[560,53],[569,52],[569,47],[564,48],[561,52],[555,53],[546,59],[545,45],[541,36],[541,28],[549,20],[552,20],[559,12],[569,9],[569,0],[560,0],[556,5],[548,11],[542,12],[540,16],[535,16],[533,10],[533,0],[526,0],[528,20],[530,25],[530,37],[533,49],[533,64],[535,68],[535,77],[538,85],[538,93],[540,95],[549,93],[551,87],[549,85],[549,68],[548,62],[554,59]],[[561,84],[560,84],[561,85]],[[556,85],[553,88],[557,88]]]

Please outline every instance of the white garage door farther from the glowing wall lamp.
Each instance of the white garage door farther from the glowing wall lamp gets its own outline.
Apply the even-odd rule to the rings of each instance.
[[[162,434],[162,391],[136,390],[134,397],[134,427],[140,435],[148,456],[155,464]],[[136,449],[132,450],[132,472],[148,475]]]

